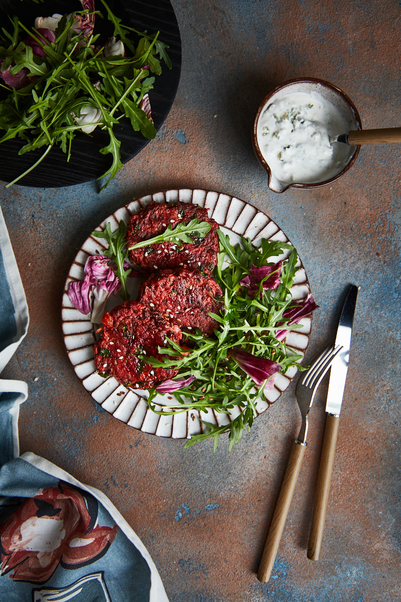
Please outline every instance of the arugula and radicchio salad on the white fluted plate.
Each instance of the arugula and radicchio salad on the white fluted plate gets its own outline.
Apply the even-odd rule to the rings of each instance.
[[[191,228],[195,232],[199,227],[188,224],[185,235],[191,237]],[[108,228],[93,235],[108,240],[107,253],[116,262],[118,272],[117,265],[127,252],[124,223],[120,222],[115,232]],[[257,415],[257,399],[271,405],[268,391],[274,387],[275,374],[286,373],[294,366],[300,368],[302,355],[287,346],[286,335],[300,328],[298,322],[317,307],[310,294],[298,302],[292,299],[290,288],[299,265],[290,244],[262,240],[257,248],[242,237],[242,244],[232,246],[221,230],[218,238],[220,252],[213,276],[224,298],[219,315],[209,314],[219,323],[214,335],[195,329],[194,333],[185,333],[183,346],[167,339],[164,347],[158,347],[162,359],[141,358],[155,367],[179,369],[174,379],[149,389],[148,405],[157,414],[191,410],[207,413],[210,409],[217,414],[231,414],[231,421],[222,426],[203,421],[204,432],[192,435],[185,447],[213,437],[216,448],[219,436],[225,432],[229,433],[230,449],[239,441],[243,429],[246,425],[250,428]],[[280,256],[280,261],[272,259]],[[123,280],[127,273],[123,270]],[[156,408],[159,395],[166,396],[161,410]]]

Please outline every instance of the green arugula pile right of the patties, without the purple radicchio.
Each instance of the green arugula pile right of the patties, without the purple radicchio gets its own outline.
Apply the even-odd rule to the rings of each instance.
[[[177,411],[195,409],[206,412],[211,408],[214,412],[227,414],[237,408],[230,423],[216,426],[203,421],[205,431],[189,439],[185,447],[197,442],[213,439],[216,450],[219,437],[228,433],[229,450],[236,444],[243,430],[251,428],[256,412],[258,398],[267,402],[265,382],[259,387],[234,361],[230,350],[246,350],[255,358],[269,359],[281,366],[285,373],[291,367],[299,367],[301,356],[286,346],[285,341],[278,341],[275,332],[283,329],[283,312],[292,303],[289,288],[298,272],[298,255],[290,244],[281,241],[263,240],[256,248],[250,240],[242,239],[242,244],[232,246],[230,239],[222,231],[218,231],[220,250],[215,279],[224,291],[224,306],[220,315],[210,313],[219,323],[213,336],[204,337],[200,331],[187,334],[189,349],[183,349],[168,340],[167,346],[158,351],[162,359],[144,358],[144,361],[159,367],[178,369],[177,377],[186,379],[194,376],[188,386],[180,388],[174,394],[176,401],[169,405],[168,397],[162,412],[155,407],[155,392],[151,389],[149,406],[157,413],[174,414]],[[288,253],[288,251],[291,251]],[[248,289],[242,287],[240,281],[249,273],[252,265],[263,267],[277,262],[277,256],[288,255],[283,261],[280,284],[275,290],[263,290],[260,299],[248,295]],[[224,259],[228,256],[228,265]],[[300,326],[286,326],[296,330]],[[234,354],[233,354],[234,355]],[[239,412],[238,412],[239,408]],[[237,415],[236,415],[237,414]]]

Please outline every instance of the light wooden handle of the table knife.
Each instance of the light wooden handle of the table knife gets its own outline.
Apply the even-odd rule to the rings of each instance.
[[[319,560],[320,548],[322,547],[323,530],[325,528],[326,509],[329,501],[331,475],[334,465],[334,453],[335,445],[337,444],[339,424],[340,417],[327,414],[322,456],[320,457],[319,475],[317,477],[312,526],[309,536],[308,559],[310,560]]]

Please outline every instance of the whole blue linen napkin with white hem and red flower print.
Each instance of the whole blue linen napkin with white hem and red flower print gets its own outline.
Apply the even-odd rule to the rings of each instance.
[[[0,208],[0,373],[28,306]],[[168,602],[148,551],[101,491],[19,456],[20,380],[0,379],[0,602]]]

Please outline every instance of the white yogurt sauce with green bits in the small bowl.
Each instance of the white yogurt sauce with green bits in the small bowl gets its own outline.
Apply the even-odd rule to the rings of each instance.
[[[331,102],[316,92],[293,92],[260,115],[257,141],[278,180],[313,184],[332,178],[348,163],[355,147],[329,141],[348,130]]]

